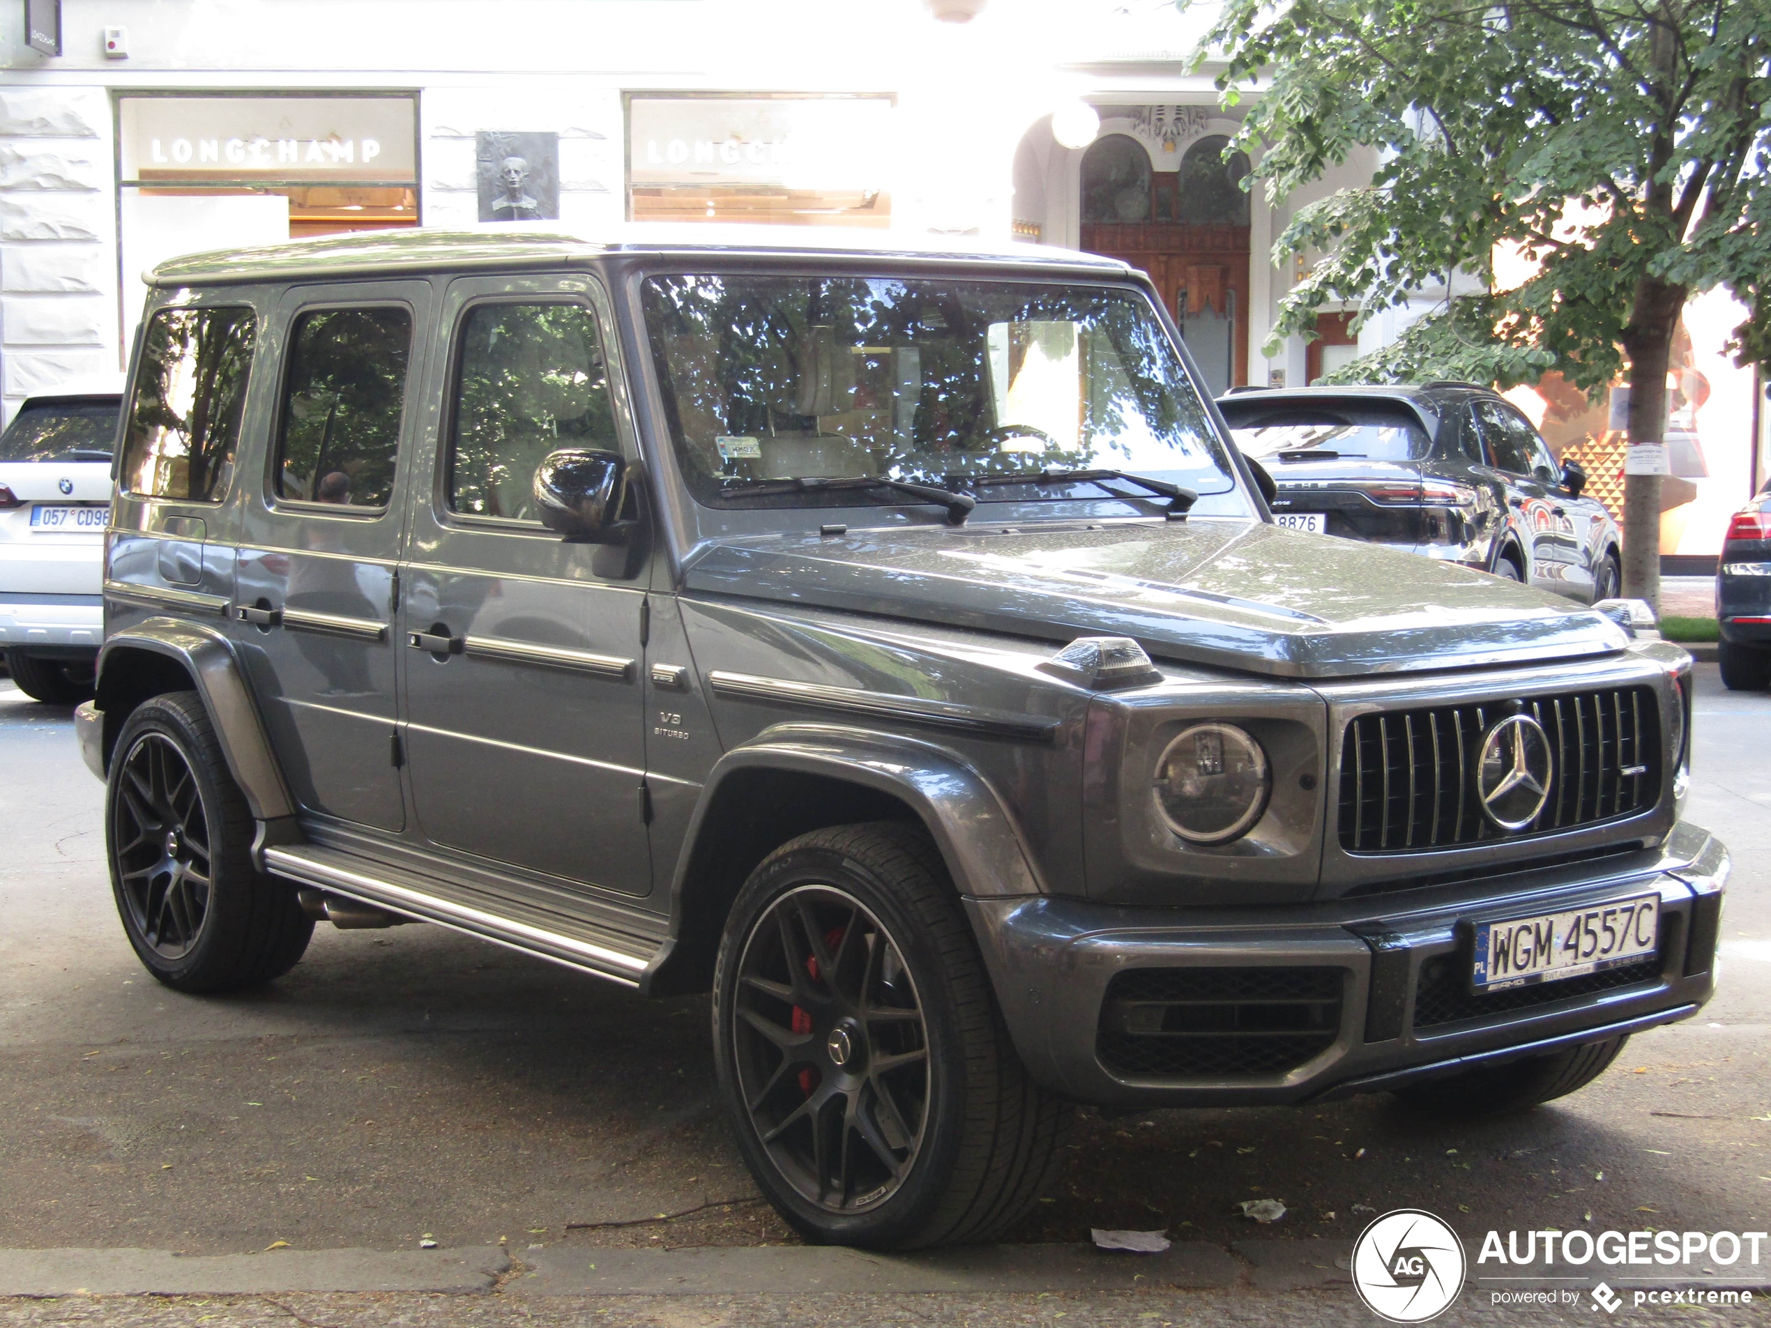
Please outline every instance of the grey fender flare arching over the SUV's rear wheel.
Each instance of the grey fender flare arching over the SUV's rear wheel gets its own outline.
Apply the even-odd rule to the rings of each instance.
[[[273,822],[296,815],[294,799],[283,783],[283,772],[276,765],[271,742],[264,735],[264,722],[253,705],[246,676],[234,659],[234,646],[213,627],[200,627],[181,618],[154,616],[135,627],[128,627],[104,641],[99,650],[97,685],[104,696],[104,673],[124,652],[145,650],[163,655],[191,675],[197,692],[204,699],[216,737],[221,740],[221,753],[227,756],[228,774],[246,795],[246,806],[253,820]],[[117,668],[124,668],[119,662]],[[119,717],[120,722],[122,717]],[[113,740],[115,735],[106,735]]]

